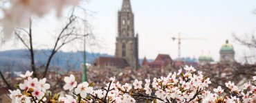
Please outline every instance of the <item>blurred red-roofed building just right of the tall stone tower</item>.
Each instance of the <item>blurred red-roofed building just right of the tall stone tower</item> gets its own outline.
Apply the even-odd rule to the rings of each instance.
[[[152,62],[148,62],[145,57],[142,62],[142,67],[150,67],[150,68],[163,68],[167,66],[172,66],[172,58],[167,54],[158,54],[156,59]]]

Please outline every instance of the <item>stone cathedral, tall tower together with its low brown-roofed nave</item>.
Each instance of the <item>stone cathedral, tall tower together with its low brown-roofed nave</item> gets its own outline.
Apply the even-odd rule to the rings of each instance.
[[[116,57],[99,57],[94,60],[96,67],[132,67],[138,69],[138,34],[134,34],[134,13],[130,0],[122,1],[118,11],[118,36],[116,37]]]

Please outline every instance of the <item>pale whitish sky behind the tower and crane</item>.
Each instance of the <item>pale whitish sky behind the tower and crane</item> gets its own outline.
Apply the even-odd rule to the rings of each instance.
[[[88,10],[96,12],[89,19],[93,34],[102,40],[100,49],[89,48],[91,52],[114,55],[117,36],[117,14],[122,0],[91,0],[84,5]],[[139,34],[139,57],[156,58],[158,54],[170,54],[177,58],[177,41],[172,36],[205,38],[205,40],[181,41],[181,56],[198,58],[208,54],[219,60],[219,49],[226,39],[235,47],[236,59],[241,61],[249,49],[234,43],[232,32],[239,36],[256,32],[255,0],[131,0],[135,18],[135,32]],[[58,23],[54,16],[48,16],[53,22],[37,25],[38,44],[52,42],[51,35],[44,34],[51,30],[51,24]],[[44,39],[42,39],[44,38]],[[13,46],[2,45],[1,50],[12,49]],[[20,47],[22,48],[22,47]],[[38,48],[44,48],[39,46]],[[75,51],[65,47],[64,51]]]

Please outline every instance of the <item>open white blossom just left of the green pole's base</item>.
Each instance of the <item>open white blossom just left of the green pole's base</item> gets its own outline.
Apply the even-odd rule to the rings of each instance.
[[[64,90],[69,89],[69,91],[71,91],[73,88],[77,86],[77,82],[75,81],[75,76],[73,76],[72,74],[69,77],[65,77],[64,81],[66,82],[66,84],[63,87]]]

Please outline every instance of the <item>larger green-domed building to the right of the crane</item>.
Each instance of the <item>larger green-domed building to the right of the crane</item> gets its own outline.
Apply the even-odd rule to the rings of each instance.
[[[225,44],[221,46],[219,51],[220,54],[220,63],[233,63],[235,62],[235,51],[232,44],[228,43],[228,40]]]

